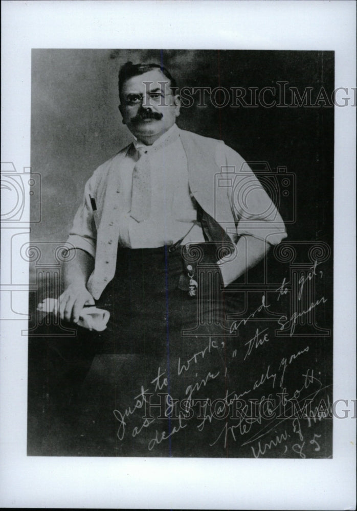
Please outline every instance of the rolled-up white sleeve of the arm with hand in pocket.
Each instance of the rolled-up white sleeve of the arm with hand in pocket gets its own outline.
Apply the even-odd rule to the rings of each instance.
[[[219,160],[226,161],[226,169],[221,167],[221,172],[227,173],[231,183],[227,187],[227,193],[236,222],[237,236],[253,236],[277,245],[287,234],[276,205],[247,162],[236,151],[225,144],[219,144],[218,153]]]

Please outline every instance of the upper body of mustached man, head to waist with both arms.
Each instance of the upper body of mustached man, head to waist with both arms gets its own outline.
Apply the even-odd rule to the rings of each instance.
[[[254,189],[249,195],[251,211],[239,199],[214,196],[214,175],[204,168],[203,156],[211,158],[216,172],[232,161],[237,172],[244,160],[220,141],[177,128],[181,100],[167,69],[126,63],[119,73],[119,96],[123,124],[135,140],[99,167],[86,184],[69,237],[78,249],[76,259],[65,265],[66,289],[60,297],[60,316],[69,321],[77,322],[83,305],[99,299],[114,277],[117,246],[145,249],[178,241],[181,246],[208,240],[233,242],[238,257],[219,265],[228,286],[286,236],[282,219],[259,181],[253,173],[247,179],[247,166],[242,188]],[[135,167],[143,156],[146,176],[138,178]],[[226,195],[229,192],[233,195],[232,190]],[[218,222],[209,214],[214,206]],[[197,222],[197,210],[204,223]],[[232,224],[233,234],[227,229]]]

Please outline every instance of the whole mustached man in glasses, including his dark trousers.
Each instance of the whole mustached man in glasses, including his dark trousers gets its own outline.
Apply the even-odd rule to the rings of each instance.
[[[83,307],[96,304],[110,312],[96,333],[98,350],[138,355],[138,384],[149,388],[159,367],[157,386],[173,398],[185,397],[197,375],[204,378],[197,395],[221,397],[224,348],[211,338],[228,335],[223,290],[286,236],[284,224],[238,153],[177,127],[181,99],[165,67],[127,62],[119,96],[134,140],[85,185],[60,317],[77,323]],[[225,169],[234,169],[234,183],[217,188]]]

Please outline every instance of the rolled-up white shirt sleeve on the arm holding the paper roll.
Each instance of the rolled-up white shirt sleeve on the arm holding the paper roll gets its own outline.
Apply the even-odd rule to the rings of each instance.
[[[97,181],[97,172],[85,183],[82,203],[74,217],[73,225],[69,233],[68,242],[75,248],[85,250],[93,258],[96,255],[97,229],[91,204]]]

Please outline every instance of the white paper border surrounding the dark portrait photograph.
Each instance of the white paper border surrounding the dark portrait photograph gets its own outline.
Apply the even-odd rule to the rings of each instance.
[[[355,7],[343,1],[3,2],[2,161],[17,170],[30,165],[32,48],[334,50],[336,87],[348,87],[351,97]],[[349,401],[355,399],[355,111],[335,108],[333,397]],[[5,254],[3,247],[2,282],[11,264]],[[26,284],[27,263],[18,258],[16,265]],[[16,309],[26,311],[27,293],[15,294]],[[3,293],[3,310],[9,296]],[[355,508],[351,418],[334,419],[333,459],[327,460],[27,457],[26,328],[26,320],[1,322],[1,506]]]

